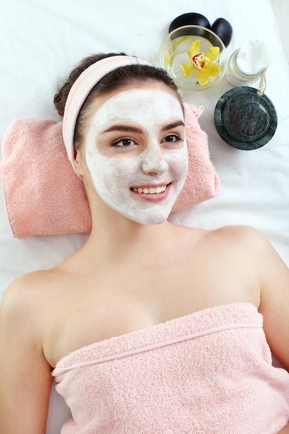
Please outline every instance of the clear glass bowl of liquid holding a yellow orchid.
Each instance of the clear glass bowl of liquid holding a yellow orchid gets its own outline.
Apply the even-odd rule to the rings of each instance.
[[[209,28],[182,26],[161,43],[159,64],[180,89],[197,92],[216,85],[225,75],[227,51]]]

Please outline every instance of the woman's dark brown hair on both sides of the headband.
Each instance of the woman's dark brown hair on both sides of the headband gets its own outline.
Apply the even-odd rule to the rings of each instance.
[[[73,69],[73,71],[71,71],[66,83],[62,85],[62,87],[58,91],[58,94],[55,94],[54,96],[54,105],[56,107],[56,110],[58,110],[60,116],[63,116],[64,114],[67,96],[73,83],[77,80],[80,74],[85,71],[85,69],[90,67],[91,64],[98,62],[98,60],[114,55],[125,55],[125,53],[90,55],[89,57],[83,59],[80,64],[78,64],[78,66]],[[152,80],[158,81],[168,86],[171,90],[173,90],[173,92],[175,92],[177,98],[179,98],[180,103],[182,103],[179,93],[177,91],[177,86],[168,76],[166,71],[164,71],[164,69],[152,67],[150,65],[140,64],[132,64],[114,69],[114,71],[107,73],[105,77],[99,80],[99,82],[91,90],[89,96],[87,96],[85,103],[82,105],[76,122],[76,130],[74,132],[74,143],[76,147],[82,144],[82,132],[85,130],[85,127],[87,127],[87,119],[89,118],[90,114],[89,107],[91,106],[92,101],[94,101],[97,96],[103,96],[109,92],[112,92],[121,87],[125,87],[132,83],[143,83]]]

